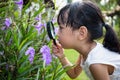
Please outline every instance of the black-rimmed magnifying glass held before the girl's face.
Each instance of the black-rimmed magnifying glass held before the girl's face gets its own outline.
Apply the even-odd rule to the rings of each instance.
[[[53,43],[57,45],[55,40],[55,28],[52,21],[47,22],[47,33],[49,38],[53,40]]]

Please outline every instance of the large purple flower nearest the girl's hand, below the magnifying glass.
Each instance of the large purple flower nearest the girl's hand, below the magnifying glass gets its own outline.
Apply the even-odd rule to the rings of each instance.
[[[46,45],[42,46],[40,49],[40,53],[42,53],[43,60],[45,61],[46,65],[49,65],[52,61],[52,56],[50,54],[50,48]]]

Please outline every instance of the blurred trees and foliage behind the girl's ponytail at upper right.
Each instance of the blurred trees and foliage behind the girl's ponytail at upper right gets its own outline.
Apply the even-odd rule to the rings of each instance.
[[[71,3],[74,0],[67,0]],[[104,18],[115,30],[120,38],[120,0],[75,0],[92,1],[97,4],[103,12]]]

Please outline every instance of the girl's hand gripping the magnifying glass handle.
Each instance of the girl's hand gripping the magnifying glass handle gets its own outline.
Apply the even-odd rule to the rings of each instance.
[[[57,42],[57,45],[53,43],[52,45],[52,52],[55,56],[57,56],[59,59],[65,57],[63,53],[63,48],[60,43]]]

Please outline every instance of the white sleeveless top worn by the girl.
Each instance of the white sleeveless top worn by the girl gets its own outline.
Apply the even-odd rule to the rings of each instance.
[[[110,79],[120,80],[120,54],[116,52],[112,52],[104,48],[102,44],[97,43],[96,47],[89,52],[86,61],[81,64],[81,66],[85,70],[85,73],[90,78],[90,80],[94,80],[94,79],[89,70],[89,67],[91,64],[96,64],[96,63],[113,66],[115,69],[113,74],[110,75]]]

